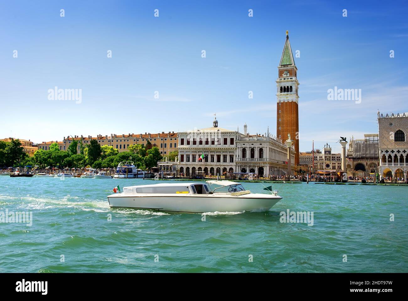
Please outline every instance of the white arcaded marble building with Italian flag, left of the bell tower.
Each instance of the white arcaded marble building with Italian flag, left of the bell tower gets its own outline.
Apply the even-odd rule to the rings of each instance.
[[[220,128],[215,118],[211,128],[178,133],[177,171],[185,175],[285,175],[288,161],[286,145],[274,139],[269,130],[265,135],[249,135],[246,128],[245,124],[244,134]],[[204,158],[200,160],[202,155]],[[294,172],[294,148],[291,148],[291,156]]]

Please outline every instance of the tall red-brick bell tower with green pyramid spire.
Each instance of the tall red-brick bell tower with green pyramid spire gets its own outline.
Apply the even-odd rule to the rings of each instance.
[[[276,80],[276,137],[285,140],[290,134],[295,140],[295,164],[299,164],[299,108],[297,67],[290,48],[289,34],[286,30],[286,41],[278,66]]]

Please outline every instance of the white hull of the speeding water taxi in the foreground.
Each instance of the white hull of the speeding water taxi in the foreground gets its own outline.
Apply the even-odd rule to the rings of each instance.
[[[110,207],[151,209],[166,212],[206,213],[268,211],[282,198],[278,195],[254,194],[232,197],[227,195],[129,195],[108,196]]]

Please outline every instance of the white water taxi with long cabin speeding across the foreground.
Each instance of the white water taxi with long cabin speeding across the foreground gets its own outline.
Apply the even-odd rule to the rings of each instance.
[[[220,187],[212,190],[208,184]],[[129,186],[108,195],[110,207],[188,213],[268,211],[280,199],[277,191],[251,193],[240,183],[216,180]]]

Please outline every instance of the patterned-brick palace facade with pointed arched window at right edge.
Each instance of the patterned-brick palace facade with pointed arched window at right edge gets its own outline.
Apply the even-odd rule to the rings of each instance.
[[[377,112],[379,135],[379,173],[382,177],[408,177],[408,112],[380,115]]]

